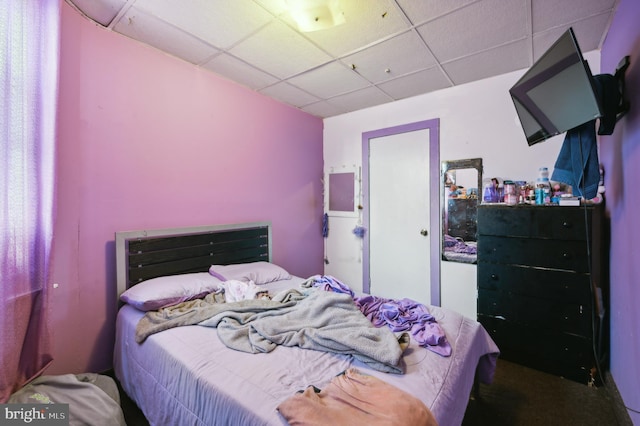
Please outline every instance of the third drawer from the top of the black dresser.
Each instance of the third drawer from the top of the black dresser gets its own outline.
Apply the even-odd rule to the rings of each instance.
[[[582,305],[591,303],[589,275],[570,271],[479,262],[478,288]]]

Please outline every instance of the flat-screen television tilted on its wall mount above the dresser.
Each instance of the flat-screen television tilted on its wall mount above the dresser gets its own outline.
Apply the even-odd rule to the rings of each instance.
[[[529,146],[602,116],[589,64],[572,28],[509,93]]]

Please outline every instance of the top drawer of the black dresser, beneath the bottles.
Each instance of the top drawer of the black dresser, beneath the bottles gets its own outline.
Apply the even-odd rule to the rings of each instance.
[[[478,233],[525,238],[585,240],[591,232],[593,208],[566,206],[504,206],[478,207]]]

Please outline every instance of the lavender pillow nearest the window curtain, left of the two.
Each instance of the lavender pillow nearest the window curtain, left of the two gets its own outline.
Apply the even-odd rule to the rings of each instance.
[[[216,291],[219,284],[220,280],[208,272],[167,275],[134,285],[120,295],[120,300],[141,311],[155,311],[204,297]]]

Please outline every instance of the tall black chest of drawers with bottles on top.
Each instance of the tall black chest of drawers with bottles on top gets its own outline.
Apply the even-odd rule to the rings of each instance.
[[[601,205],[478,206],[478,321],[501,357],[599,384],[608,363]]]

